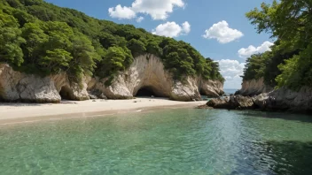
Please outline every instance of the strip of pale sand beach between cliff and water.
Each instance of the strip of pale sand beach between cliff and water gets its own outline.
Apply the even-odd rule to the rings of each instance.
[[[204,103],[205,102],[176,102],[164,98],[96,100],[96,102],[92,100],[82,102],[67,101],[58,104],[0,103],[0,123],[27,121],[43,117],[86,117],[170,106],[195,107]]]

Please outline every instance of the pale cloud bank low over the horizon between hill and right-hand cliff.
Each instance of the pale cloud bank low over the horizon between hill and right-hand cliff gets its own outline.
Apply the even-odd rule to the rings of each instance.
[[[241,75],[244,74],[245,63],[238,60],[222,59],[217,61],[220,65],[220,72],[225,79],[224,88],[240,88],[242,83]]]

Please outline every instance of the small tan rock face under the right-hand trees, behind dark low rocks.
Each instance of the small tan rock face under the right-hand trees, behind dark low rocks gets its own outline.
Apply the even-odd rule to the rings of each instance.
[[[273,87],[266,85],[264,79],[259,80],[244,80],[242,83],[242,88],[238,90],[235,95],[260,95],[262,93],[269,93],[273,90]]]

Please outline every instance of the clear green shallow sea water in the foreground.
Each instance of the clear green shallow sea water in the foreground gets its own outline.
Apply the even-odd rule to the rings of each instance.
[[[0,126],[0,174],[312,174],[312,118],[175,109]]]

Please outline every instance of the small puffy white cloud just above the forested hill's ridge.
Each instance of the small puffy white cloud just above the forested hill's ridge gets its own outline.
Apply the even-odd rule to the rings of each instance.
[[[152,34],[157,34],[160,36],[177,37],[182,34],[189,34],[191,32],[191,25],[189,22],[185,21],[182,26],[176,24],[175,22],[167,22],[160,24],[158,27],[152,30]]]

